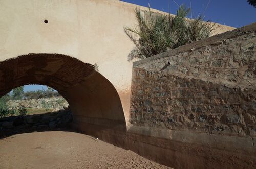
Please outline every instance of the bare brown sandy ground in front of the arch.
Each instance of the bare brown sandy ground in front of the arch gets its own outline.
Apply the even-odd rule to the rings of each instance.
[[[0,139],[0,168],[168,168],[88,135],[47,131]]]

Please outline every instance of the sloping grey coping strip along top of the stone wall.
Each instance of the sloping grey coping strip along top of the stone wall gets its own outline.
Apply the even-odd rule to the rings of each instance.
[[[234,29],[232,31],[227,31],[227,32],[215,35],[215,36],[211,36],[211,37],[203,39],[203,40],[199,40],[199,41],[196,41],[193,43],[189,43],[189,44],[177,47],[176,49],[173,49],[173,50],[170,50],[167,52],[163,52],[163,53],[160,53],[160,54],[157,54],[157,55],[154,55],[154,56],[151,56],[151,57],[139,60],[139,61],[135,61],[135,62],[133,62],[133,67],[147,63],[147,62],[152,62],[152,61],[155,61],[160,58],[173,56],[173,55],[176,55],[181,52],[194,50],[194,49],[206,46],[206,45],[221,44],[226,39],[237,37],[237,36],[242,35],[247,32],[256,32],[256,22],[251,23],[250,25],[246,25],[241,28]]]

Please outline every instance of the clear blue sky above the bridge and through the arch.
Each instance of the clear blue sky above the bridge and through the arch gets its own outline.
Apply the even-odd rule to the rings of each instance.
[[[191,7],[192,16],[202,14],[205,20],[221,23],[232,27],[242,27],[256,22],[256,8],[247,3],[247,0],[122,0],[175,14],[181,4]],[[191,17],[189,14],[188,17]],[[25,91],[46,89],[42,85],[27,85]]]

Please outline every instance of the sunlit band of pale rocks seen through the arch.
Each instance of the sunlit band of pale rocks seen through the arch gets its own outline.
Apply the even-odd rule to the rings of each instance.
[[[53,98],[40,98],[40,99],[30,99],[30,100],[9,100],[7,102],[9,107],[18,107],[19,105],[23,105],[26,108],[32,109],[55,109],[60,110],[63,107],[68,107],[68,102],[60,97],[53,97]]]

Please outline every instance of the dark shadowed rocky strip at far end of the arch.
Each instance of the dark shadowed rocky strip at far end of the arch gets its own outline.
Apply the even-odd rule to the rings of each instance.
[[[73,131],[69,127],[72,120],[69,108],[45,114],[0,118],[0,139],[30,132]]]

